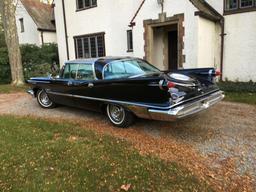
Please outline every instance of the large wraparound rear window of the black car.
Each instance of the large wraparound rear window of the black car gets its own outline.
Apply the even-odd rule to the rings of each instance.
[[[103,69],[103,78],[129,78],[136,75],[146,75],[151,73],[160,73],[160,70],[143,60],[127,59],[108,63]]]

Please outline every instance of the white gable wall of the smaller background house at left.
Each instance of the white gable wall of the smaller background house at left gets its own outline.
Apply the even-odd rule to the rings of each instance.
[[[20,18],[23,18],[24,21],[24,32],[21,32]],[[20,1],[18,1],[16,8],[16,24],[20,44],[40,45],[37,26]]]

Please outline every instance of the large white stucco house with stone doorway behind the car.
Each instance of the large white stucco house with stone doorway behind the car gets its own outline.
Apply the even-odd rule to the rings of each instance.
[[[61,63],[105,55],[256,81],[255,0],[54,0]]]

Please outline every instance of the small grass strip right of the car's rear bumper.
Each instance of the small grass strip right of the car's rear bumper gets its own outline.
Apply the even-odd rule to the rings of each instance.
[[[256,105],[256,93],[225,92],[225,100]]]

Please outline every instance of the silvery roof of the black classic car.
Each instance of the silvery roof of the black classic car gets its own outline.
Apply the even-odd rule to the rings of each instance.
[[[94,64],[97,61],[103,62],[103,63],[109,63],[111,61],[115,60],[123,60],[123,59],[137,59],[135,57],[117,57],[117,56],[109,56],[109,57],[99,57],[99,58],[88,58],[88,59],[75,59],[66,61],[65,64]]]

